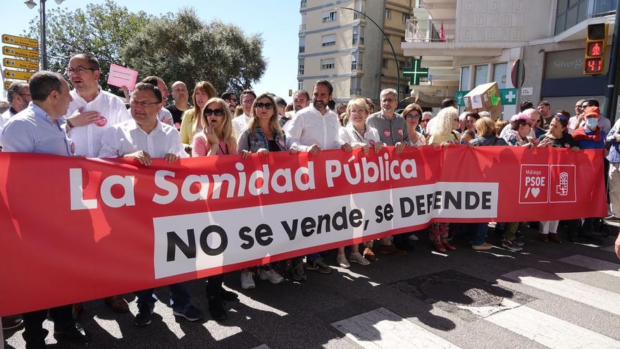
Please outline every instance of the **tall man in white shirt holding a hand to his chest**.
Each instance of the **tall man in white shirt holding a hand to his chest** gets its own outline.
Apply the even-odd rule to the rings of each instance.
[[[104,132],[131,117],[123,99],[101,90],[98,84],[101,72],[96,58],[76,54],[69,60],[66,73],[74,87],[70,92],[73,102],[65,115],[67,135],[75,143],[76,155],[97,157]],[[124,312],[129,310],[125,307]]]

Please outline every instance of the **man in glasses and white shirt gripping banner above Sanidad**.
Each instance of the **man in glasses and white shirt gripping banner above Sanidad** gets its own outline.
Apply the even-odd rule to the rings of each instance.
[[[174,126],[161,123],[157,118],[162,100],[161,92],[154,85],[144,82],[137,84],[131,94],[132,119],[106,131],[101,141],[103,146],[99,157],[137,159],[144,166],[150,166],[154,158],[173,162],[180,157],[187,157],[181,146],[179,131]],[[192,305],[187,283],[175,283],[169,288],[173,314],[189,321],[204,317],[202,311]],[[135,324],[147,326],[151,324],[156,298],[152,289],[140,290],[135,294],[138,306]]]

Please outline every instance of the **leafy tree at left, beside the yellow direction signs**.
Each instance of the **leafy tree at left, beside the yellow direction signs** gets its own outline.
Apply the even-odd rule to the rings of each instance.
[[[132,13],[114,1],[89,4],[86,11],[55,7],[46,14],[48,68],[64,73],[74,54],[86,53],[99,59],[99,85],[106,87],[112,63],[125,66],[120,50],[139,32],[152,16],[142,11]],[[39,39],[39,17],[30,21],[27,37]],[[110,87],[116,92],[116,87]]]

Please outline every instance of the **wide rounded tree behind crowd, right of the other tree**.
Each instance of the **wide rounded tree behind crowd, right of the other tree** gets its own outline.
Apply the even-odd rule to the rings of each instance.
[[[204,23],[193,8],[155,18],[123,49],[123,58],[142,75],[159,75],[168,83],[180,80],[192,92],[208,80],[218,94],[237,92],[257,82],[266,69],[260,35],[246,37],[236,25]]]

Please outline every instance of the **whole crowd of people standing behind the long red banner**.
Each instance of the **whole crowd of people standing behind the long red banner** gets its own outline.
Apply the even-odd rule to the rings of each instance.
[[[395,147],[399,154],[405,147],[432,145],[451,147],[560,147],[605,149],[609,168],[610,221],[620,221],[620,121],[613,128],[608,118],[600,115],[595,99],[580,100],[574,114],[552,112],[548,102],[534,107],[523,102],[520,112],[509,119],[488,112],[464,112],[459,115],[454,99],[445,99],[436,116],[423,111],[417,104],[398,109],[397,92],[380,92],[379,106],[371,98],[351,99],[335,105],[333,87],[326,80],[314,84],[311,94],[297,91],[291,104],[270,93],[257,95],[244,90],[239,99],[234,92],[216,92],[208,81],[194,86],[190,98],[185,83],[171,85],[173,102],[166,105],[168,88],[157,76],[149,76],[125,99],[106,92],[98,85],[99,62],[88,54],[71,57],[66,76],[41,71],[30,82],[16,82],[8,88],[9,109],[0,118],[0,145],[3,152],[31,152],[82,156],[136,159],[150,166],[152,159],[173,162],[187,157],[220,157],[271,152],[308,152],[325,149],[351,152],[361,148],[364,153],[380,152]],[[240,102],[237,105],[237,102]],[[609,151],[607,150],[609,149]],[[593,236],[593,224],[600,217],[583,217],[571,221],[529,222],[538,224],[538,240],[562,243],[559,227],[566,228],[567,238],[574,242],[600,242]],[[523,249],[520,222],[503,222],[495,226],[501,246],[512,251]],[[428,227],[428,238],[438,252],[456,250],[452,237],[464,235],[473,250],[489,250],[488,224],[449,224],[434,222]],[[350,263],[367,266],[376,259],[375,253],[402,256],[416,249],[421,232],[404,233],[339,247],[335,265],[349,268]],[[426,233],[424,234],[426,235]],[[375,246],[377,243],[378,246]],[[348,250],[348,255],[347,255]],[[285,280],[306,281],[306,271],[330,274],[333,268],[325,262],[325,253],[263,264],[240,272],[243,289],[256,287],[255,276],[277,284]],[[212,319],[227,316],[225,302],[237,300],[237,294],[222,287],[223,275],[207,279],[206,295]],[[173,313],[189,321],[204,318],[194,307],[187,283],[169,286]],[[137,326],[147,326],[156,298],[153,290],[138,290],[135,317]],[[116,312],[128,312],[121,295],[104,300]],[[62,341],[87,341],[88,333],[75,322],[81,305],[65,305],[49,310],[54,320],[54,336]],[[23,323],[27,348],[44,348],[46,330],[42,322],[48,310],[3,319],[3,327]]]

